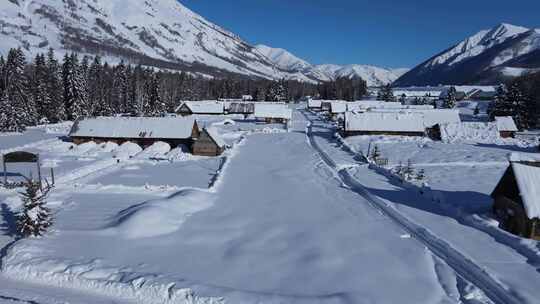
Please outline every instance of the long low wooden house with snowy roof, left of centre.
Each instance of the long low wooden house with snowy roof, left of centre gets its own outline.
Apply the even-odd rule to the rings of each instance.
[[[133,142],[146,148],[162,141],[171,147],[191,148],[199,137],[199,127],[192,117],[98,117],[78,120],[69,138],[79,145],[86,142]]]

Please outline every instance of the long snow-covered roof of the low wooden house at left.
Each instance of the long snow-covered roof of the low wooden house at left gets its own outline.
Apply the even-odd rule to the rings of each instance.
[[[192,117],[98,117],[77,121],[69,136],[96,138],[186,139],[191,137]]]

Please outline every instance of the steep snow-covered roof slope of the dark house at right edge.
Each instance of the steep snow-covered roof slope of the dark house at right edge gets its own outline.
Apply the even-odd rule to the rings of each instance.
[[[540,218],[540,167],[513,162],[512,170],[527,217]]]

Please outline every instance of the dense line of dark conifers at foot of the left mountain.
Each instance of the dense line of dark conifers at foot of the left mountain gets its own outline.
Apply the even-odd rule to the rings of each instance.
[[[0,56],[0,78],[0,132],[86,116],[160,116],[173,112],[183,100],[251,95],[255,101],[292,101],[303,96],[352,101],[367,91],[362,79],[312,84],[234,75],[205,78],[123,61],[113,65],[100,56],[77,53],[59,61],[52,49],[31,62],[20,48],[11,49],[5,59]]]

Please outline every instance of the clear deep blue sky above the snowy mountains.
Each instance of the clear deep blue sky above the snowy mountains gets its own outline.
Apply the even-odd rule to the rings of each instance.
[[[501,22],[540,28],[540,0],[180,0],[250,43],[315,64],[413,67]]]

